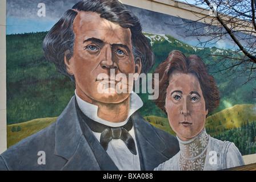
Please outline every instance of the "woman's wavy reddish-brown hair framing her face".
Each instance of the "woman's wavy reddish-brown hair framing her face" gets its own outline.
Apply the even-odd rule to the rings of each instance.
[[[201,86],[206,109],[208,109],[210,113],[218,107],[221,100],[219,90],[215,84],[214,77],[209,75],[206,65],[203,63],[202,59],[197,55],[186,57],[180,51],[171,51],[167,59],[154,71],[154,73],[159,74],[159,97],[154,100],[154,102],[161,110],[166,113],[166,90],[169,86],[171,73],[173,73],[173,71],[184,74],[191,73],[195,75]],[[154,87],[155,85],[153,80],[153,88]]]

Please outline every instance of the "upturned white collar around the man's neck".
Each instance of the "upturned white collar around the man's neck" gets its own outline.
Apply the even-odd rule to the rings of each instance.
[[[129,114],[127,119],[123,122],[113,123],[113,122],[105,121],[104,119],[99,118],[97,115],[98,106],[89,104],[88,102],[83,101],[80,97],[78,97],[76,90],[75,90],[75,97],[77,98],[77,104],[81,109],[81,111],[83,112],[83,114],[85,114],[90,119],[93,119],[94,121],[97,121],[99,123],[102,123],[104,125],[111,126],[111,127],[119,127],[119,126],[125,125],[129,120],[131,114],[133,114],[135,111],[137,111],[139,108],[143,106],[143,102],[141,98],[132,91],[130,96],[130,108],[129,108]]]

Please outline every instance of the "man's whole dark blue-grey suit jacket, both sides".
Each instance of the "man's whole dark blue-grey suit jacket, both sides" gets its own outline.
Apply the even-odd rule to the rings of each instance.
[[[177,139],[132,116],[142,170],[153,170],[179,151]],[[87,125],[79,124],[75,97],[56,122],[22,139],[0,155],[1,170],[118,170]],[[38,151],[45,152],[46,164],[38,164]]]

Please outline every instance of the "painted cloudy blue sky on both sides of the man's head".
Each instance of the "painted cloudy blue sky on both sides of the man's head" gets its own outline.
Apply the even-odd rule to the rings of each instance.
[[[79,0],[6,0],[6,34],[49,31],[50,28],[58,22],[63,13],[65,13],[66,10],[71,9],[78,1]],[[193,3],[193,0],[179,1]],[[45,7],[38,6],[41,5],[39,3],[43,3]],[[41,11],[43,8],[45,8],[44,16],[42,16]],[[182,35],[179,35],[181,34],[179,28],[174,26],[170,27],[163,23],[170,22],[169,15],[155,13],[150,17],[149,21],[148,15],[151,14],[151,11],[132,7],[130,10],[138,16],[144,32],[171,35],[191,46],[198,46],[198,41],[196,42],[196,39],[188,37],[184,38]],[[177,19],[178,18],[175,20]],[[218,42],[215,46],[223,48],[223,45],[225,46],[225,43]],[[210,45],[209,47],[212,46],[213,45]]]

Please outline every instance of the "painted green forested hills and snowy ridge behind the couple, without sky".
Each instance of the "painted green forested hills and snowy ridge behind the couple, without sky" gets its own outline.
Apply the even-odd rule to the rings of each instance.
[[[47,32],[6,36],[7,48],[7,146],[17,143],[55,122],[74,95],[69,78],[57,72],[43,57],[42,40]],[[228,49],[190,46],[170,35],[144,33],[155,53],[154,69],[166,59],[170,51],[178,49],[187,56],[223,54]],[[212,57],[204,59],[206,65]],[[153,69],[153,71],[154,71]],[[151,71],[151,72],[153,72]],[[214,67],[209,67],[214,72]],[[206,119],[206,131],[212,137],[234,142],[242,155],[256,153],[255,84],[246,77],[213,75],[221,92],[221,105]],[[166,115],[148,100],[148,93],[139,93],[144,103],[139,112],[146,121],[174,134]]]

